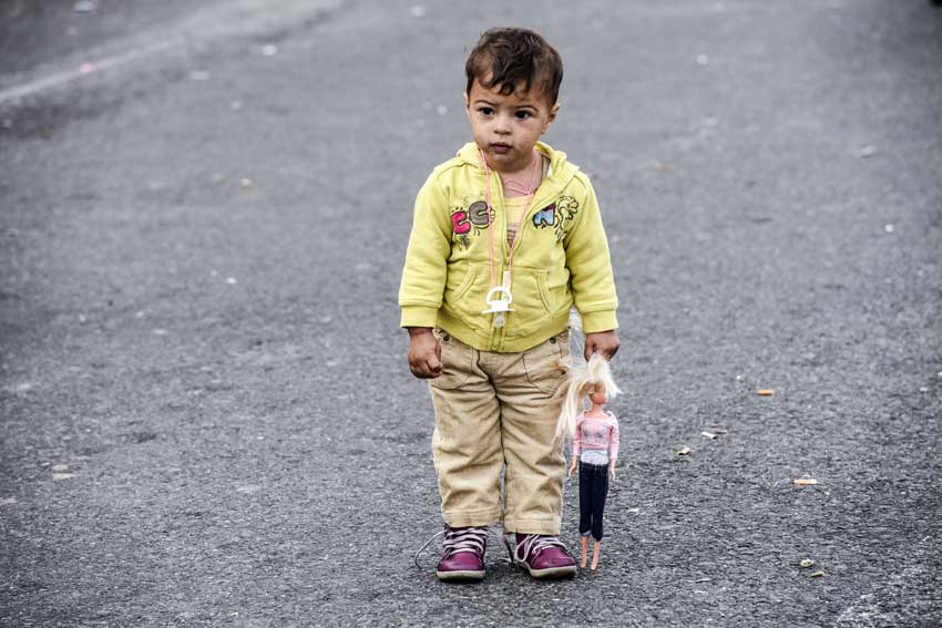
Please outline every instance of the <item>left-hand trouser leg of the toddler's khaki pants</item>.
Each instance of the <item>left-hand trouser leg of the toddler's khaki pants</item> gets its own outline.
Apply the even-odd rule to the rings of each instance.
[[[430,380],[436,409],[432,452],[441,512],[452,527],[500,521],[500,408],[478,351],[442,336],[442,377]]]

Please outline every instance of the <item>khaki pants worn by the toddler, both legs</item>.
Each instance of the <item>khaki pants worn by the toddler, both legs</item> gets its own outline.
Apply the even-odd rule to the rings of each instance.
[[[442,374],[430,380],[441,511],[454,527],[501,519],[505,532],[559,534],[565,456],[553,444],[564,331],[520,353],[479,351],[439,331]],[[501,509],[500,474],[504,473]]]

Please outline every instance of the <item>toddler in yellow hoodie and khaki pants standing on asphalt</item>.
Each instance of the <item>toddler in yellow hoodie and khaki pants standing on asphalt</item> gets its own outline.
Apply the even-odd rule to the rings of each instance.
[[[436,410],[437,574],[482,579],[487,526],[502,519],[518,565],[569,576],[554,393],[573,305],[586,357],[618,349],[608,245],[588,178],[539,142],[560,110],[559,53],[533,31],[492,29],[465,73],[474,142],[419,192],[399,291],[409,368],[430,380]]]

